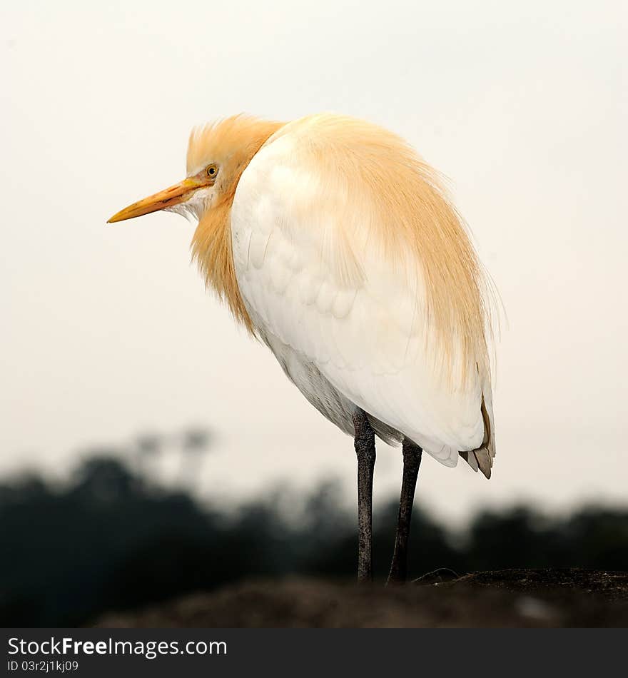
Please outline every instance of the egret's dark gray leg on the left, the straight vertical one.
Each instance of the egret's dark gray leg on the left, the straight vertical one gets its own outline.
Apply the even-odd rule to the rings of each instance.
[[[353,426],[355,454],[358,455],[358,582],[372,582],[375,433],[363,410],[355,410]]]

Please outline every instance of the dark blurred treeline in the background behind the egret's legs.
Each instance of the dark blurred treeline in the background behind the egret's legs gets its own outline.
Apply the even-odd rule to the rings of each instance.
[[[375,572],[382,580],[396,512],[396,499],[375,511]],[[462,534],[417,509],[412,542],[414,577],[437,567],[459,573],[506,567],[625,570],[628,509],[591,506],[569,517],[525,506],[481,512]],[[357,546],[353,512],[333,482],[305,500],[287,488],[221,510],[199,504],[187,490],[148,480],[141,467],[131,470],[101,455],[81,463],[61,487],[37,476],[1,484],[0,548],[0,621],[14,627],[74,626],[108,610],[245,577],[350,578]]]

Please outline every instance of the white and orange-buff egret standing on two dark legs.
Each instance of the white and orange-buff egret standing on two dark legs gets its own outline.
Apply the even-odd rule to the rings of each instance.
[[[444,182],[369,121],[239,114],[193,128],[183,181],[108,223],[196,221],[191,252],[237,323],[353,437],[358,581],[373,581],[375,438],[403,470],[387,582],[407,579],[422,452],[491,475],[492,282]]]

